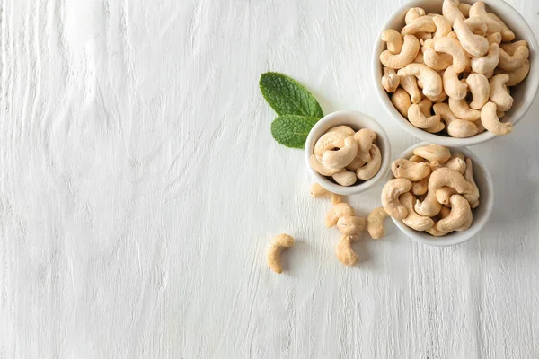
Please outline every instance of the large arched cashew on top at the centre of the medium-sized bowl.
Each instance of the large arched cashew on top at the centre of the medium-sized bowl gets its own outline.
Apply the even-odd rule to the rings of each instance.
[[[423,202],[418,200],[414,206],[419,215],[432,217],[440,212],[442,205],[437,201],[436,192],[442,187],[454,188],[457,193],[472,191],[472,185],[459,172],[446,167],[437,169],[430,174],[427,197]]]

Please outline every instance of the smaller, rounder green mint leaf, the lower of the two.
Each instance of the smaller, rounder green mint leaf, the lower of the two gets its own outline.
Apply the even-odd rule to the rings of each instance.
[[[282,115],[271,123],[271,135],[279,144],[292,148],[304,148],[309,131],[318,118],[298,115]]]

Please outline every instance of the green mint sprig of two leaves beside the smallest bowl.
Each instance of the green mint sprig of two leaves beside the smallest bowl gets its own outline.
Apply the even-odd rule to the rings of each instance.
[[[262,74],[259,85],[264,99],[279,115],[271,124],[273,138],[287,147],[304,148],[309,131],[323,118],[318,101],[285,74]]]

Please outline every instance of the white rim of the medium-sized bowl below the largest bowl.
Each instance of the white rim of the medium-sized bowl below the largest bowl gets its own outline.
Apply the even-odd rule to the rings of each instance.
[[[410,146],[408,149],[403,151],[398,158],[408,158],[410,157],[409,154],[411,152],[420,146],[428,145],[428,142],[421,142],[420,144],[414,144]],[[455,246],[460,243],[464,243],[464,241],[469,241],[474,235],[476,235],[478,232],[482,230],[482,228],[485,226],[487,222],[489,222],[490,215],[492,214],[492,209],[494,208],[494,183],[492,182],[492,177],[490,176],[490,171],[482,164],[480,157],[473,153],[472,150],[470,150],[468,147],[455,147],[455,146],[447,146],[451,152],[454,150],[463,153],[466,157],[469,157],[473,161],[473,167],[481,169],[482,173],[484,174],[484,180],[487,184],[488,193],[490,194],[489,197],[486,199],[482,199],[482,202],[480,206],[486,206],[485,212],[482,217],[477,218],[477,220],[474,218],[472,226],[464,231],[464,232],[454,232],[447,234],[443,237],[435,237],[435,236],[427,236],[422,232],[417,232],[412,230],[410,227],[408,227],[406,224],[402,223],[401,220],[395,219],[391,217],[393,220],[393,223],[408,237],[410,237],[413,241],[418,241],[423,244],[427,244],[429,246],[435,246],[435,247],[450,247]],[[393,180],[394,176],[392,172],[389,172],[388,180]],[[458,235],[455,236],[455,233]],[[453,237],[452,237],[453,235]]]

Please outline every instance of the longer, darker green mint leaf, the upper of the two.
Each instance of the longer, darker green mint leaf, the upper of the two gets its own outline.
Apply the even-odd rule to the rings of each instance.
[[[264,99],[278,115],[323,118],[320,104],[311,92],[290,77],[278,73],[261,75],[259,83]]]

